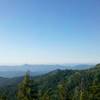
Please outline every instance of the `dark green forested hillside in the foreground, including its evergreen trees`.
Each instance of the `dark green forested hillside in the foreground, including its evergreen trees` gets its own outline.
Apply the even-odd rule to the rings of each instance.
[[[87,70],[0,78],[0,100],[100,100],[100,64]]]

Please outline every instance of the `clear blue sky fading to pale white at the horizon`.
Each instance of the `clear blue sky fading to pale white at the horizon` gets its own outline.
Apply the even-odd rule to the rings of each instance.
[[[100,0],[0,0],[0,64],[100,62]]]

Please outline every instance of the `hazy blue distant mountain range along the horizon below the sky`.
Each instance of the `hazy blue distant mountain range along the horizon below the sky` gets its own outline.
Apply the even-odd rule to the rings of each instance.
[[[0,76],[5,78],[19,77],[23,76],[26,71],[30,71],[32,76],[37,76],[57,69],[84,70],[94,66],[90,64],[0,66]]]

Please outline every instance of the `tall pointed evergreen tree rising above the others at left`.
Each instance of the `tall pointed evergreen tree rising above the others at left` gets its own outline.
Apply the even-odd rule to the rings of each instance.
[[[24,80],[19,85],[18,100],[38,100],[37,85],[31,80],[29,72],[26,73]]]

